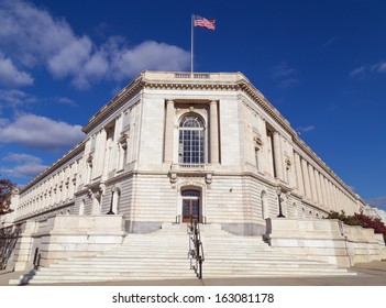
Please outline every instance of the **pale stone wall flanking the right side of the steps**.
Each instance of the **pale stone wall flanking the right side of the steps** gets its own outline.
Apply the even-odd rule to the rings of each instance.
[[[350,267],[386,257],[382,234],[339,220],[267,219],[266,240],[275,250],[302,258]]]

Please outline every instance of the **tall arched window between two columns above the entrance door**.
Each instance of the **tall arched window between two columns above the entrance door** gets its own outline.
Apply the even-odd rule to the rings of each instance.
[[[179,123],[178,163],[205,164],[205,128],[195,114],[183,117]]]

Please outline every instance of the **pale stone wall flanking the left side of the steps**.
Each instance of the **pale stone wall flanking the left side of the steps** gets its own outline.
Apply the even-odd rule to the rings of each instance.
[[[121,244],[123,230],[122,216],[57,216],[29,221],[15,249],[14,270],[33,268],[36,257],[41,266],[48,266],[63,258],[96,255]]]

